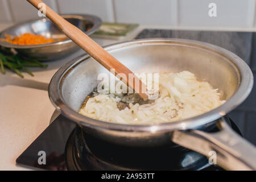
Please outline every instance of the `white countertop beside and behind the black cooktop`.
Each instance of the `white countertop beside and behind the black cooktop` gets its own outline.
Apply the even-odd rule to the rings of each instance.
[[[11,24],[0,24],[0,31]],[[141,28],[122,40],[94,39],[101,46],[131,40]],[[55,107],[48,98],[47,87],[62,64],[83,54],[79,50],[65,59],[48,62],[48,68],[31,68],[34,77],[20,78],[7,70],[0,73],[0,170],[28,170],[16,166],[15,160],[46,129]]]

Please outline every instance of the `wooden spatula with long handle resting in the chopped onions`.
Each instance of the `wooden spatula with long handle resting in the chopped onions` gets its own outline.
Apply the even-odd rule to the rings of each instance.
[[[40,10],[42,7],[46,7],[46,16],[53,23],[56,24],[57,27],[60,28],[61,31],[64,32],[73,42],[75,42],[78,46],[80,46],[86,53],[92,56],[95,60],[98,61],[102,66],[110,71],[110,69],[115,70],[115,76],[118,77],[118,73],[125,74],[126,78],[120,78],[127,86],[133,88],[135,92],[139,94],[143,98],[144,101],[148,99],[146,94],[146,85],[134,75],[130,69],[126,68],[125,65],[120,63],[117,59],[115,59],[110,53],[105,51],[100,45],[94,42],[89,38],[84,32],[82,32],[76,26],[69,23],[67,20],[62,18],[59,14],[53,11],[50,7],[48,7],[45,3],[40,0],[27,0],[31,3],[31,5],[35,6],[36,9]],[[43,6],[42,6],[43,5]],[[129,75],[132,74],[133,79],[129,80]],[[142,92],[143,91],[143,92]]]

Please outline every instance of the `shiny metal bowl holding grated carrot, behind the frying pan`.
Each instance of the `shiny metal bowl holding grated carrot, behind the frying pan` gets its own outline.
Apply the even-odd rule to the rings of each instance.
[[[93,32],[98,30],[102,24],[101,19],[93,15],[77,14],[61,16],[68,20],[68,22],[80,28],[80,30],[84,31],[86,35],[93,34]],[[46,38],[65,38],[63,32],[61,32],[61,30],[48,18],[44,17],[15,24],[15,26],[2,31],[0,33],[0,38],[4,39],[5,34],[18,36],[19,34],[24,34],[26,32],[30,32],[32,34],[40,34]],[[6,48],[14,48],[18,53],[30,57],[35,57],[40,61],[60,59],[61,57],[70,55],[79,49],[79,47],[74,42],[72,42],[71,39],[31,46],[21,46],[1,41],[0,46]]]

